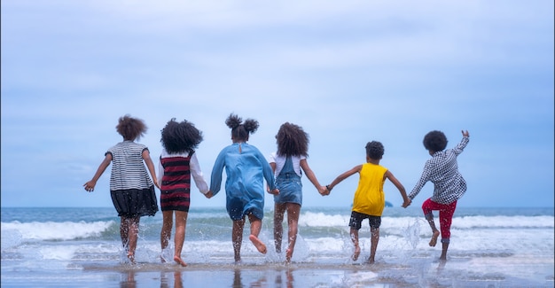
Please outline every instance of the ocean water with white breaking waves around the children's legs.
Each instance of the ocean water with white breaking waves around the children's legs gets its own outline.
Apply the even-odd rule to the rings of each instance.
[[[182,257],[160,251],[161,212],[143,217],[137,264],[121,249],[113,207],[2,207],[4,287],[553,287],[554,217],[546,208],[457,207],[447,261],[418,206],[386,207],[376,263],[370,229],[360,230],[362,253],[350,256],[350,207],[303,207],[292,263],[273,249],[273,211],[265,212],[260,238],[248,240],[248,223],[234,264],[231,220],[223,207],[192,207]],[[438,217],[436,225],[438,225]],[[284,223],[285,224],[285,223]],[[438,226],[439,227],[439,226]],[[286,225],[284,226],[286,231]],[[284,237],[286,239],[286,237]],[[438,241],[439,242],[439,241]],[[286,245],[284,241],[284,246]],[[285,251],[285,249],[282,249]]]

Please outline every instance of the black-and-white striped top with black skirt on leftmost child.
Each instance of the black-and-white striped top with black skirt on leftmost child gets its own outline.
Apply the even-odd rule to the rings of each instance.
[[[158,211],[154,183],[142,156],[145,150],[144,144],[123,141],[106,152],[112,154],[110,195],[119,216],[153,216]]]

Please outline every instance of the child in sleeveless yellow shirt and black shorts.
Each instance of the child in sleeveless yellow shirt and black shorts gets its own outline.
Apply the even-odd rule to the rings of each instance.
[[[363,220],[368,218],[371,232],[371,248],[370,257],[366,262],[374,262],[376,249],[378,248],[381,214],[384,210],[384,206],[386,206],[386,198],[383,191],[386,179],[394,183],[395,187],[401,192],[401,196],[403,196],[403,207],[410,205],[410,199],[407,197],[403,184],[401,184],[386,167],[379,165],[379,160],[381,160],[383,154],[384,146],[381,143],[377,141],[369,142],[366,144],[366,163],[358,165],[337,176],[331,184],[326,186],[328,191],[332,191],[335,185],[345,180],[348,176],[354,175],[355,173],[360,174],[358,187],[355,191],[355,199],[353,200],[351,219],[348,223],[348,226],[351,228],[351,239],[355,245],[355,252],[352,256],[353,261],[356,261],[360,254],[358,230],[361,229]]]

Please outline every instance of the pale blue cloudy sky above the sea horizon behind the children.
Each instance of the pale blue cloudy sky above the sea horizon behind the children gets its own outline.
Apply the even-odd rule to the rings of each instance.
[[[553,1],[2,0],[0,12],[3,207],[113,206],[111,166],[95,191],[83,184],[125,114],[148,126],[138,142],[155,165],[160,129],[194,123],[209,183],[230,113],[259,121],[249,144],[266,156],[282,123],[304,128],[323,185],[379,141],[407,192],[426,133],[451,148],[468,130],[457,206],[553,206]],[[303,206],[350,206],[358,176],[325,197],[302,182]],[[192,186],[192,207],[225,206]]]

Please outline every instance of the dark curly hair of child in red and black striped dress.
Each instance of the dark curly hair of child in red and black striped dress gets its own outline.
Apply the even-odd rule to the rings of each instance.
[[[170,154],[192,152],[202,140],[202,132],[186,120],[177,122],[176,118],[172,118],[161,129],[160,142]]]

